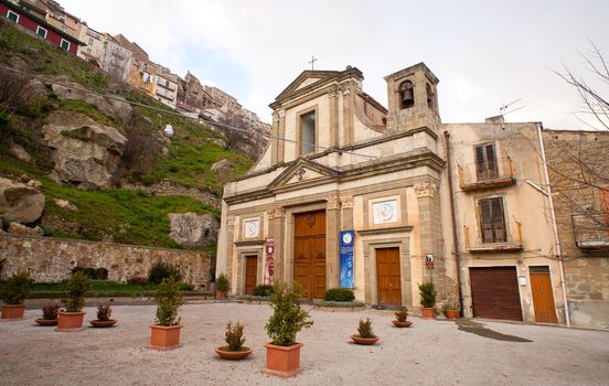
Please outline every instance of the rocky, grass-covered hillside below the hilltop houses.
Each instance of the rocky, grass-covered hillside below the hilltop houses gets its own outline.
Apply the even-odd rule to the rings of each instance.
[[[213,248],[222,183],[253,162],[220,130],[7,23],[0,84],[4,232]]]

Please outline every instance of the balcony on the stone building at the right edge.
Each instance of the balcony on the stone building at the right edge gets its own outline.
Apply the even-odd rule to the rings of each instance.
[[[575,244],[581,249],[609,249],[609,214],[579,213],[571,215]]]

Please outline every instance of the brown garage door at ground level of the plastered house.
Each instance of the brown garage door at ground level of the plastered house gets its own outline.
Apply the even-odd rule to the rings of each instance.
[[[473,315],[522,321],[515,267],[470,268]]]

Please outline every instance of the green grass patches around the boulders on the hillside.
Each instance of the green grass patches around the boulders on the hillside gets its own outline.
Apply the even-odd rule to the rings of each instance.
[[[97,68],[89,66],[82,60],[65,54],[58,49],[51,47],[13,28],[0,25],[0,64],[7,65],[11,57],[18,56],[44,76],[62,75],[73,82],[96,90],[104,92],[107,79]],[[156,100],[133,92],[126,97],[146,105],[164,108]],[[9,125],[0,125],[0,131],[9,132],[9,137],[18,139],[25,149],[36,158],[36,162],[19,161],[8,151],[0,137],[0,175],[28,174],[39,180],[46,196],[43,218],[60,218],[62,222],[81,224],[77,232],[53,235],[68,238],[101,239],[111,235],[116,242],[148,246],[178,247],[169,237],[170,212],[201,212],[218,217],[214,208],[185,196],[151,196],[143,192],[125,190],[108,190],[85,192],[70,185],[57,184],[45,176],[52,168],[52,161],[40,150],[40,132],[29,128],[40,128],[45,117],[54,109],[83,112],[93,119],[121,129],[110,118],[105,117],[96,107],[81,100],[57,100],[50,97],[40,106],[29,106],[23,111],[11,117]],[[245,156],[225,150],[210,139],[217,133],[189,119],[175,117],[146,108],[140,111],[158,125],[158,128],[171,124],[177,132],[170,147],[168,159],[159,158],[150,175],[145,181],[172,180],[184,185],[207,189],[220,193],[221,186],[217,176],[210,167],[227,158],[235,164],[234,175],[247,171],[252,161]],[[38,137],[36,137],[38,136]],[[70,212],[55,205],[53,199],[68,200],[78,207],[77,212]],[[44,221],[43,221],[43,224]],[[51,230],[52,229],[47,229]]]

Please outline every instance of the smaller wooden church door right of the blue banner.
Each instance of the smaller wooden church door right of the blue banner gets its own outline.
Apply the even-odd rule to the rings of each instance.
[[[399,248],[376,249],[376,283],[378,304],[402,304]]]

